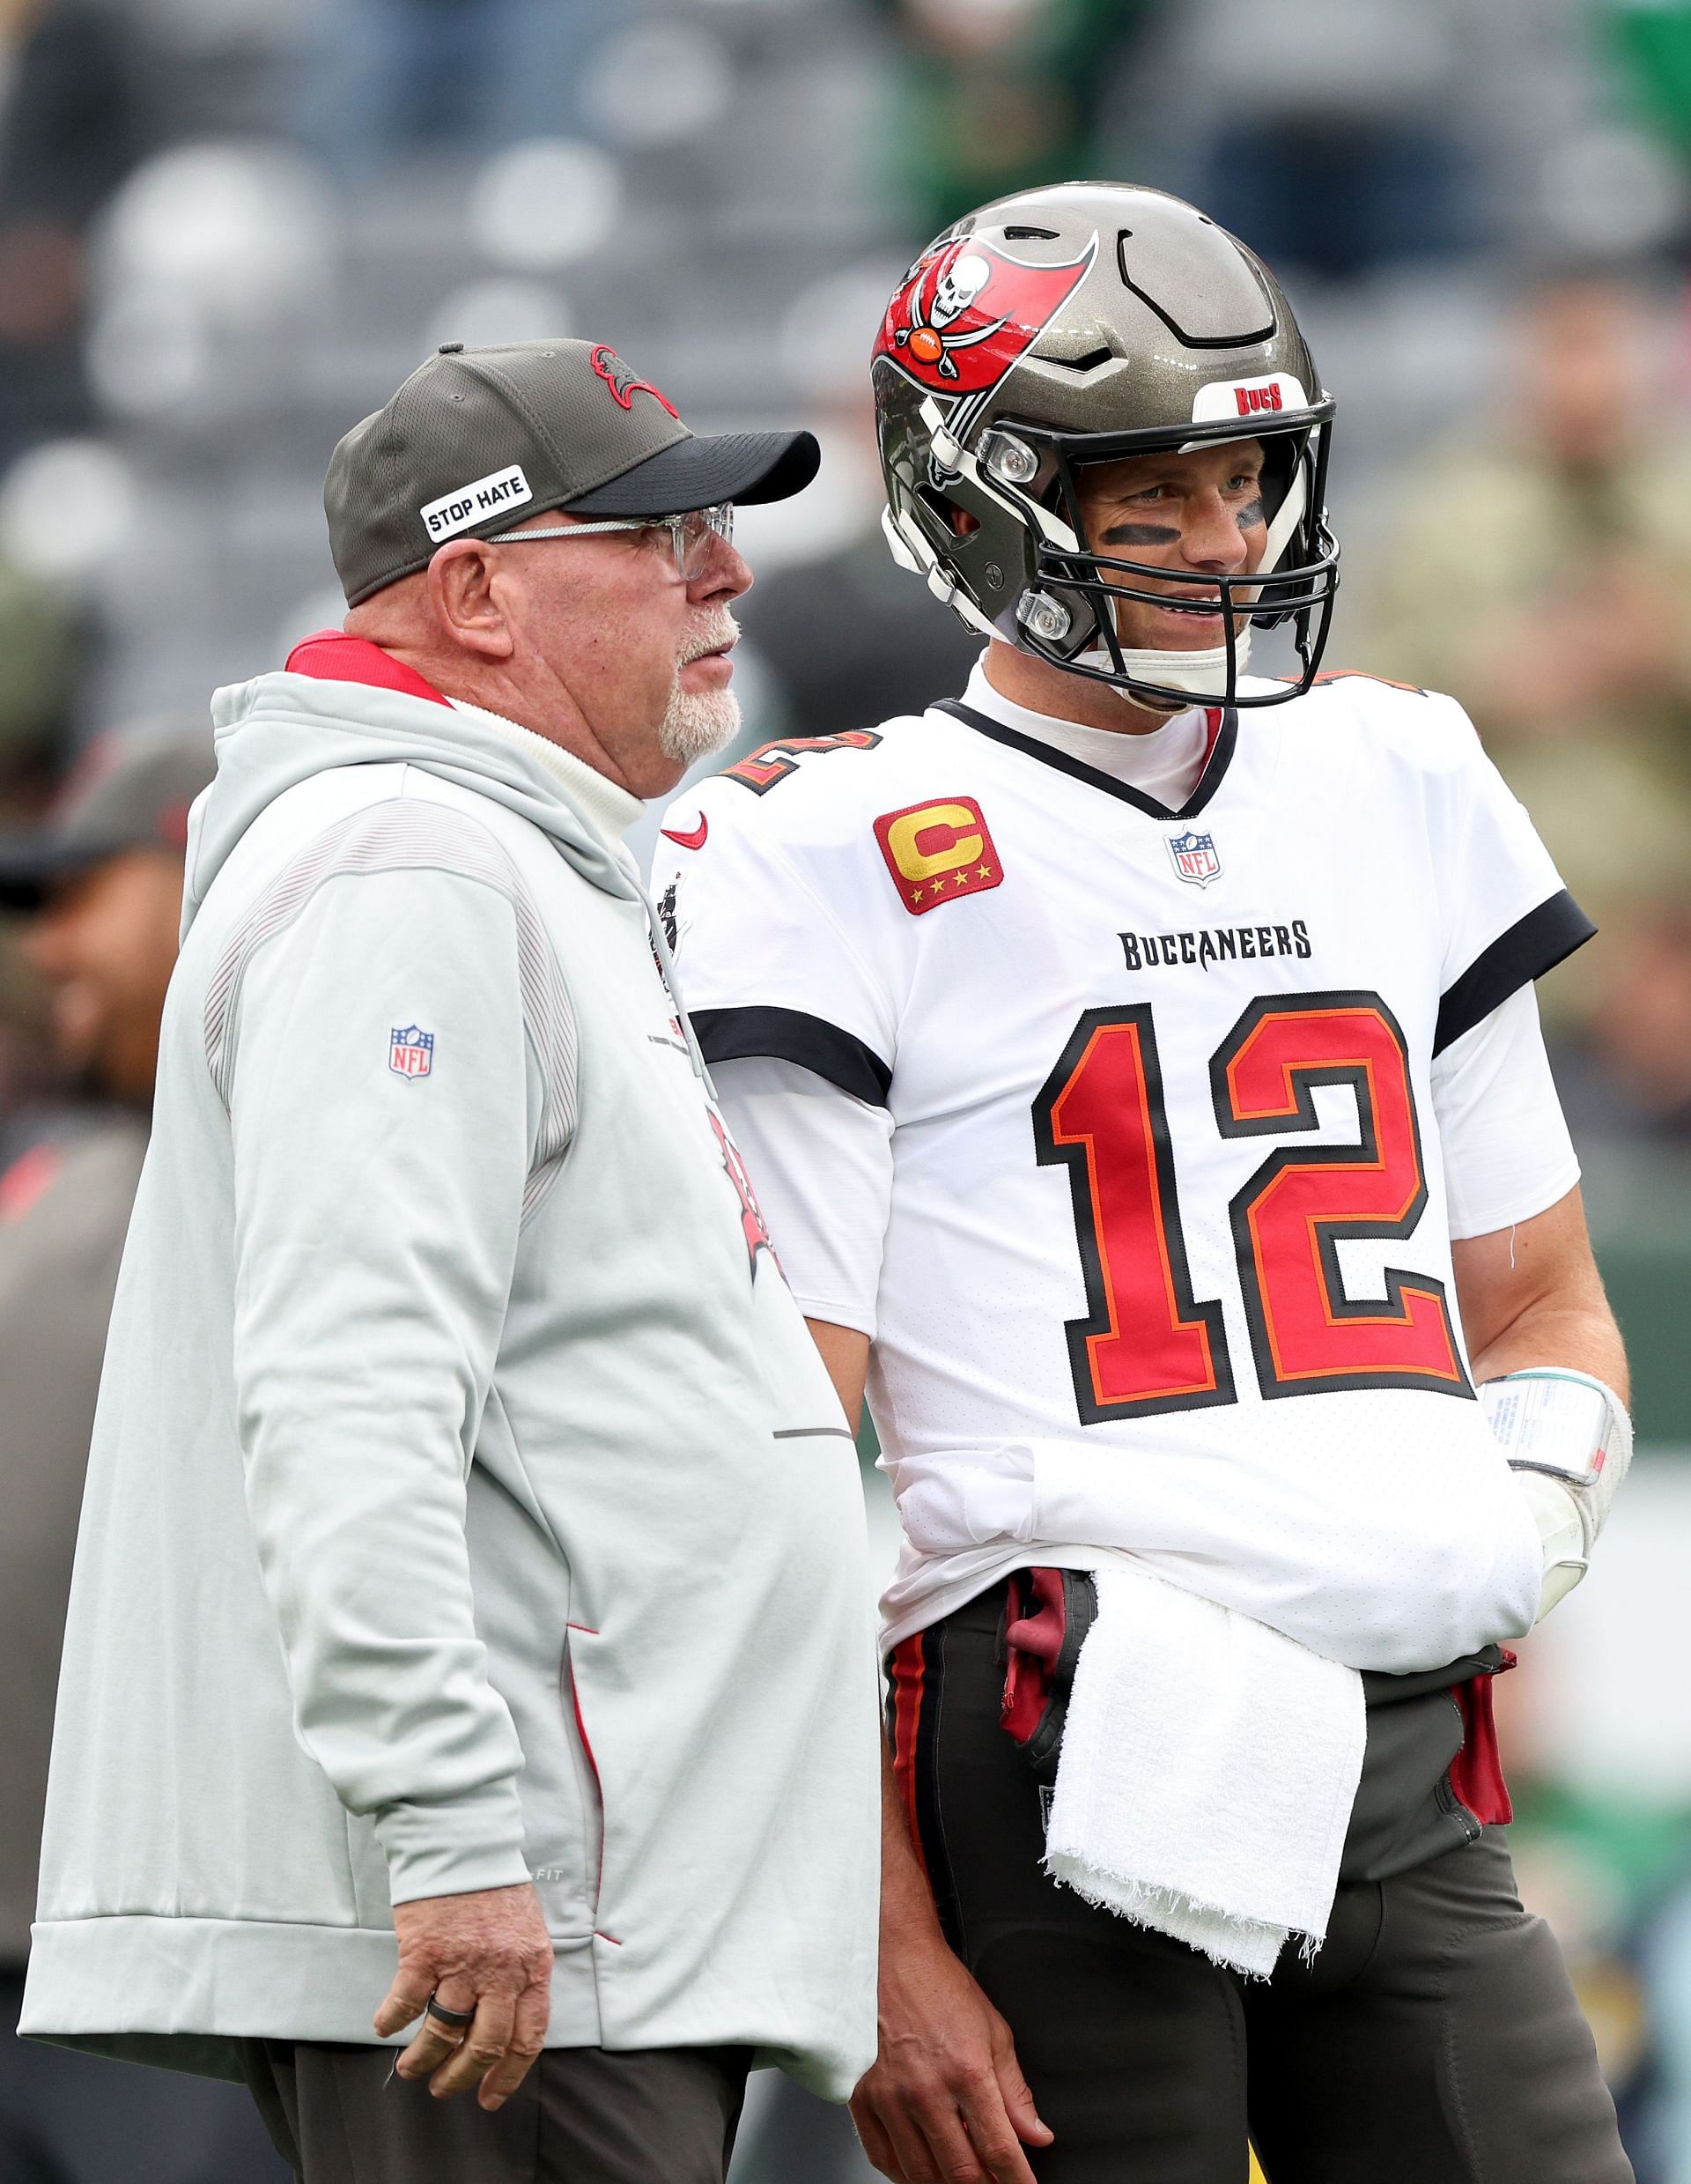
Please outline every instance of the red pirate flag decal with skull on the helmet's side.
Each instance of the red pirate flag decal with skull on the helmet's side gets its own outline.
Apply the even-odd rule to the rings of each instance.
[[[875,356],[936,395],[984,395],[1030,349],[1091,271],[1080,258],[1032,266],[958,236],[919,258],[886,306]]]

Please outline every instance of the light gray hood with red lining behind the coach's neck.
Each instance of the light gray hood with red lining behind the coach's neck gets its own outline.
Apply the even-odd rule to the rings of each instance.
[[[644,902],[633,871],[554,775],[367,638],[338,629],[305,638],[281,673],[218,690],[212,725],[218,771],[188,828],[183,937],[260,812],[334,767],[408,764],[439,773],[550,834],[559,856],[607,895]]]

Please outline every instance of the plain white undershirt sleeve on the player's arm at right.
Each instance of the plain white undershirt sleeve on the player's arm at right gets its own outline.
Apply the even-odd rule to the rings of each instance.
[[[1434,1061],[1434,1116],[1451,1236],[1532,1221],[1580,1182],[1530,985]]]

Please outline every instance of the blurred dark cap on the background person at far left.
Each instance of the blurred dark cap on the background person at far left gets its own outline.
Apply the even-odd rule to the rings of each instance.
[[[39,909],[61,880],[124,850],[188,847],[188,806],[216,773],[212,727],[113,727],[39,828],[0,834],[0,906]]]

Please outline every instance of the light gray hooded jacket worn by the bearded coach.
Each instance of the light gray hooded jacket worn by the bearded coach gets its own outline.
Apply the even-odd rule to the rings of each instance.
[[[548,2040],[873,2055],[851,1437],[633,869],[375,646],[218,692],[22,2031],[373,2042],[532,1878]]]

